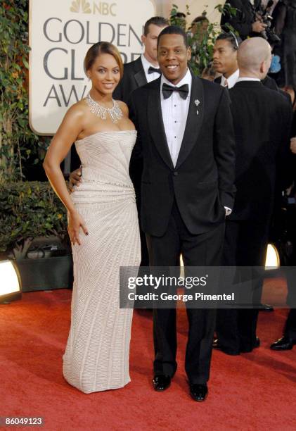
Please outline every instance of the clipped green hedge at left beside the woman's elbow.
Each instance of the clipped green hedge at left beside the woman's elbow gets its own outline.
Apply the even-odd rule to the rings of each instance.
[[[25,255],[32,239],[67,238],[67,214],[47,182],[11,182],[0,189],[0,251]]]

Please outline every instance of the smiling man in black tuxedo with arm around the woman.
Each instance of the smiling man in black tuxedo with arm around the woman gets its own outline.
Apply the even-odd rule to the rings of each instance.
[[[233,207],[235,160],[229,96],[191,75],[186,33],[169,26],[157,41],[162,76],[131,94],[138,130],[134,156],[143,157],[141,225],[151,266],[219,266],[226,211]],[[187,308],[186,373],[193,399],[207,396],[213,309]],[[154,387],[176,372],[176,309],[153,313]]]

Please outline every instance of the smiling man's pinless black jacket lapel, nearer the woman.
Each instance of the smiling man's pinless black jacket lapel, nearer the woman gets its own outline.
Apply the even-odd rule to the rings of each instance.
[[[169,146],[167,145],[167,137],[165,135],[165,127],[162,120],[162,110],[160,104],[160,77],[153,82],[153,89],[150,90],[148,96],[148,123],[150,134],[153,137],[153,142],[160,153],[163,161],[174,169],[171,155],[169,154]]]

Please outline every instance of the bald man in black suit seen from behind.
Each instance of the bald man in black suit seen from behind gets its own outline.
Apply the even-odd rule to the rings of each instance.
[[[291,106],[262,85],[271,63],[264,39],[247,39],[238,49],[238,81],[229,89],[236,136],[236,200],[226,219],[224,266],[264,266],[276,175],[283,187],[288,171]],[[257,286],[257,288],[260,286]],[[255,292],[256,296],[256,292]],[[226,354],[259,346],[257,309],[220,309],[214,347]]]

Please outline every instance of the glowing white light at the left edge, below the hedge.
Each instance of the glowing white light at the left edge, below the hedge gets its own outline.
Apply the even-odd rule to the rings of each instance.
[[[0,261],[0,303],[20,299],[20,276],[11,261]]]

